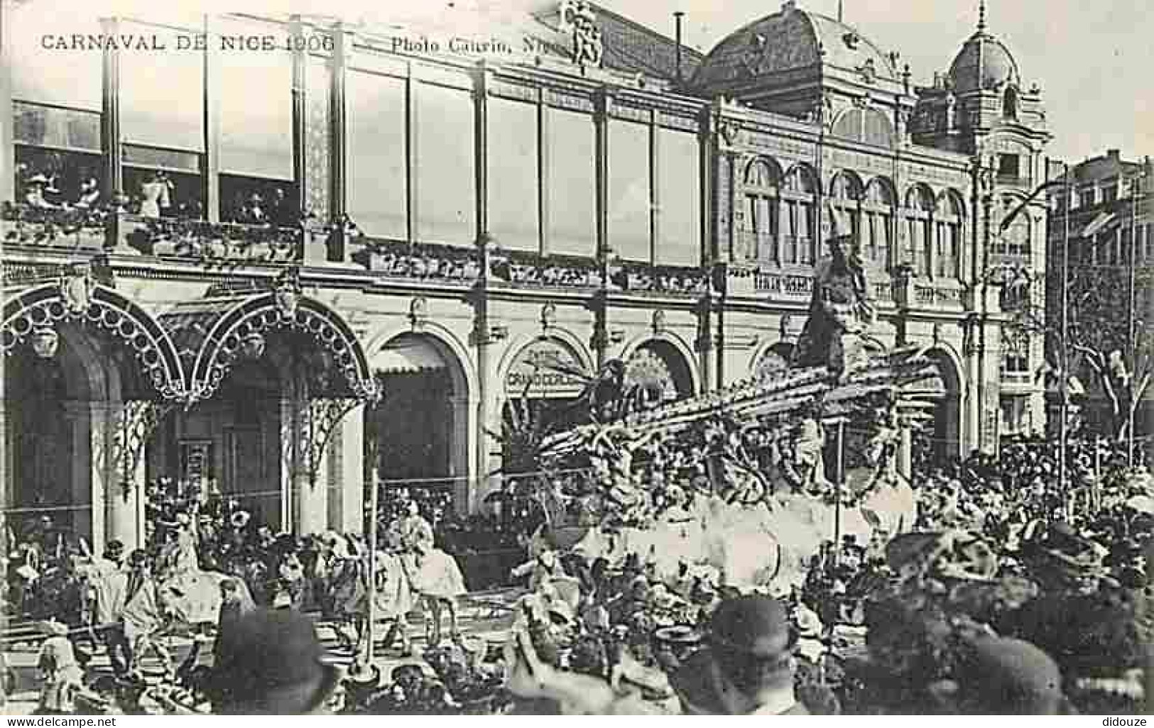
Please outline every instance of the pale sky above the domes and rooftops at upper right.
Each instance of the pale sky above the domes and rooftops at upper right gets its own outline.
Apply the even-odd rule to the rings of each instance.
[[[745,23],[780,9],[777,0],[598,0],[615,13],[683,37],[707,52]],[[946,72],[977,23],[977,0],[841,0],[845,22],[883,51],[898,51],[915,82]],[[830,17],[838,0],[799,0]],[[1079,162],[1118,149],[1154,156],[1154,3],[1151,0],[988,0],[988,30],[1014,59],[1024,83],[1043,90],[1052,157]]]

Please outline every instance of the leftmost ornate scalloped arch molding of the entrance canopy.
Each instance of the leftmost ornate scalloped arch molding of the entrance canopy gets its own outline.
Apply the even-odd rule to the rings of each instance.
[[[33,331],[74,323],[97,329],[121,342],[136,360],[143,378],[162,399],[187,401],[188,378],[174,342],[159,321],[114,288],[90,277],[63,277],[5,297],[0,348],[12,354]]]

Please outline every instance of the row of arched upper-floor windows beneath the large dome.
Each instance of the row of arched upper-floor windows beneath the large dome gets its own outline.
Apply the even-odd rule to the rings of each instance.
[[[739,230],[750,260],[804,265],[824,254],[817,230],[819,185],[811,168],[797,165],[782,173],[772,159],[759,157],[747,165],[742,181]],[[854,172],[842,171],[830,185],[833,224],[839,233],[852,232],[869,264],[889,269],[908,263],[919,276],[960,277],[966,223],[961,194],[950,189],[935,196],[919,183],[901,202],[899,207],[893,182],[884,177],[864,185]]]

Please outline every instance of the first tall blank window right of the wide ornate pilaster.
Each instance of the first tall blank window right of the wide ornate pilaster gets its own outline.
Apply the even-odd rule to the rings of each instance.
[[[345,105],[349,216],[369,235],[405,238],[405,81],[350,69]]]

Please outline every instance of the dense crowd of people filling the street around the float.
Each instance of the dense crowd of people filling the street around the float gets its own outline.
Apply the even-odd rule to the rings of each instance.
[[[293,616],[315,611],[336,625],[354,662],[334,676],[317,660],[305,671],[325,698],[290,712],[1140,712],[1154,626],[1146,565],[1154,478],[1100,443],[1073,442],[1067,463],[1063,485],[1055,444],[1037,438],[919,472],[913,530],[826,538],[800,580],[752,586],[699,562],[669,569],[653,547],[606,556],[571,538],[567,531],[591,527],[567,530],[580,509],[549,493],[571,490],[584,473],[538,487],[512,480],[486,503],[489,535],[479,536],[503,533],[527,554],[508,576],[525,595],[512,605],[503,652],[457,624],[465,585],[442,549],[469,527],[451,517],[447,496],[412,489],[382,500],[370,576],[358,534],[277,534],[211,481],[162,480],[149,488],[147,548],[125,554],[113,542],[103,558],[73,560],[82,598],[70,617],[47,620],[44,705],[74,708],[104,690],[132,710],[147,692],[141,661],[155,654],[168,688],[152,693],[168,711],[198,701],[249,710],[264,688],[226,695],[220,675],[235,675],[230,665],[267,670],[273,658],[228,652],[228,640],[248,639],[233,628],[291,632],[292,648],[320,654],[312,622]],[[682,465],[677,479],[692,474]],[[694,509],[670,504],[647,527],[682,523],[683,511]],[[472,527],[480,532],[481,521]],[[47,524],[25,531],[9,558],[10,603],[21,591],[16,572],[52,558]],[[208,600],[197,603],[205,572],[219,575],[212,614]],[[388,675],[359,659],[370,599],[385,624],[377,654],[409,660]],[[418,603],[433,615],[420,655],[406,623]],[[158,639],[174,622],[197,645],[212,641],[211,660],[195,647],[174,663]],[[76,629],[84,624],[95,629]],[[84,681],[96,645],[115,681]]]

